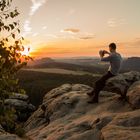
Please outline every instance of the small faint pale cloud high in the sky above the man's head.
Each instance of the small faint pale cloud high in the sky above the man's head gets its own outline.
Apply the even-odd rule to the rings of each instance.
[[[107,24],[108,24],[109,27],[112,27],[113,28],[113,27],[118,27],[118,26],[127,24],[127,22],[126,22],[126,19],[124,19],[124,18],[120,18],[120,19],[110,18],[107,21]]]

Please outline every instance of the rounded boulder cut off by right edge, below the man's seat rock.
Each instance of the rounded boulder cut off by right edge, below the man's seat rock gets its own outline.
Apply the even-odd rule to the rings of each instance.
[[[140,81],[130,86],[127,92],[128,101],[135,109],[140,109]]]

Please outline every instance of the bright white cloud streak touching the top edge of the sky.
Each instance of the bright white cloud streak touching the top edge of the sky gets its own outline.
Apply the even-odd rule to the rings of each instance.
[[[46,3],[47,0],[31,0],[32,6],[30,7],[30,16],[33,16],[35,12]]]

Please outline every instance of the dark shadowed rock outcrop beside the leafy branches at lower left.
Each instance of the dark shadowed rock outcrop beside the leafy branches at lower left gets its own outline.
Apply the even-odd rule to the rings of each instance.
[[[18,113],[18,119],[25,121],[35,111],[35,106],[28,103],[28,96],[24,94],[13,93],[9,99],[5,100],[6,106],[12,106]]]

